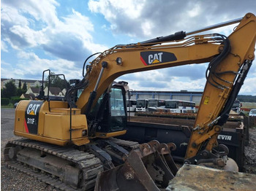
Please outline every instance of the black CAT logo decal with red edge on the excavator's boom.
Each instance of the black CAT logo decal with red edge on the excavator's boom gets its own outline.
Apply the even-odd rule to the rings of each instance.
[[[171,52],[146,51],[140,52],[140,61],[145,66],[159,63],[177,61],[176,56]]]

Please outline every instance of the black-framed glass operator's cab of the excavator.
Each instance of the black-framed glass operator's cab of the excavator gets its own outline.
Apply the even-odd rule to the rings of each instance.
[[[115,133],[126,133],[127,108],[126,92],[123,85],[115,84],[106,90],[88,114],[91,136],[104,138]],[[93,127],[97,124],[97,127]],[[90,130],[91,129],[91,130]],[[94,130],[94,132],[93,132]],[[106,137],[107,138],[107,137]]]

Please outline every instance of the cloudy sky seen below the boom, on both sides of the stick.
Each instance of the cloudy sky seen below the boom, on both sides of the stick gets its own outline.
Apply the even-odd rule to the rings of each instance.
[[[207,63],[200,65],[178,66],[171,69],[143,71],[121,76],[116,81],[127,81],[133,90],[158,91],[203,91],[206,85],[205,71]],[[252,64],[249,75],[239,94],[256,95],[256,65]]]

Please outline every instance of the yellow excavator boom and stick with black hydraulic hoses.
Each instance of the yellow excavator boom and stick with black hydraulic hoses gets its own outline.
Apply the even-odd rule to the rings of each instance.
[[[188,163],[195,163],[200,159],[196,155],[211,157],[211,149],[217,147],[217,135],[255,58],[255,22],[255,15],[246,14],[228,37],[205,34],[184,38],[186,34],[181,32],[177,38],[173,35],[116,45],[102,52],[87,67],[86,88],[76,104],[82,113],[88,114],[99,95],[123,74],[209,62],[206,86],[185,158]]]

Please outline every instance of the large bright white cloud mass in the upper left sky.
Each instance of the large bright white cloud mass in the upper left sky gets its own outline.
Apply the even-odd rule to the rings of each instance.
[[[1,34],[3,42],[16,50],[39,48],[55,58],[83,62],[86,55],[105,50],[95,44],[89,17],[72,9],[59,19],[56,1],[3,1]],[[25,16],[26,15],[26,16]],[[27,16],[29,15],[29,16]],[[36,23],[37,28],[33,28]]]

